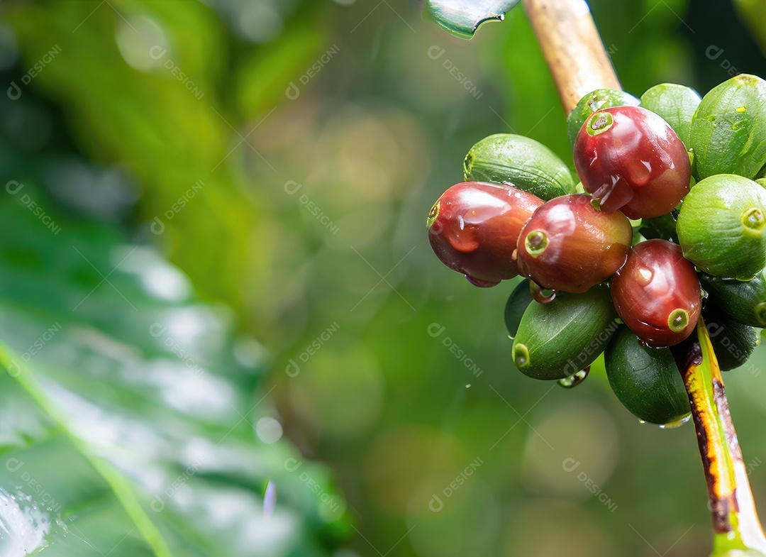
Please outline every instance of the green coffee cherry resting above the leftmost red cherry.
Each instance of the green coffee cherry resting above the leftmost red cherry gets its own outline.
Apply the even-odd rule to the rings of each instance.
[[[476,143],[463,170],[466,181],[512,185],[545,201],[575,192],[564,161],[542,143],[512,133],[496,133]]]

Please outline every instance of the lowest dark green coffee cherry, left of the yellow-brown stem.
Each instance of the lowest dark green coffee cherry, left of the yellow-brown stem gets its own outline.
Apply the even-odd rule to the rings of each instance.
[[[614,395],[641,421],[674,424],[689,414],[689,398],[670,349],[641,346],[621,326],[604,351],[604,366]]]

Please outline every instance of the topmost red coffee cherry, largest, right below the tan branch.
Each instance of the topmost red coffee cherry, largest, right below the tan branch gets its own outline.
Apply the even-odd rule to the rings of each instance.
[[[575,141],[575,168],[602,211],[666,215],[689,192],[686,147],[668,123],[637,106],[599,110]]]

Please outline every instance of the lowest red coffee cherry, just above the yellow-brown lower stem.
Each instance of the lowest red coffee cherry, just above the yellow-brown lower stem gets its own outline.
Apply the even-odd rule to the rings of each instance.
[[[702,309],[694,266],[666,240],[636,244],[611,283],[620,319],[648,346],[686,339]]]

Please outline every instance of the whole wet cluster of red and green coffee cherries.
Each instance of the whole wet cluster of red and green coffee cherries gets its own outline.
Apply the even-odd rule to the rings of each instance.
[[[431,247],[479,287],[525,277],[506,304],[522,373],[571,386],[603,355],[633,414],[676,423],[689,401],[669,347],[704,316],[734,369],[766,326],[766,81],[596,90],[568,132],[579,183],[533,139],[476,143],[430,210]]]

